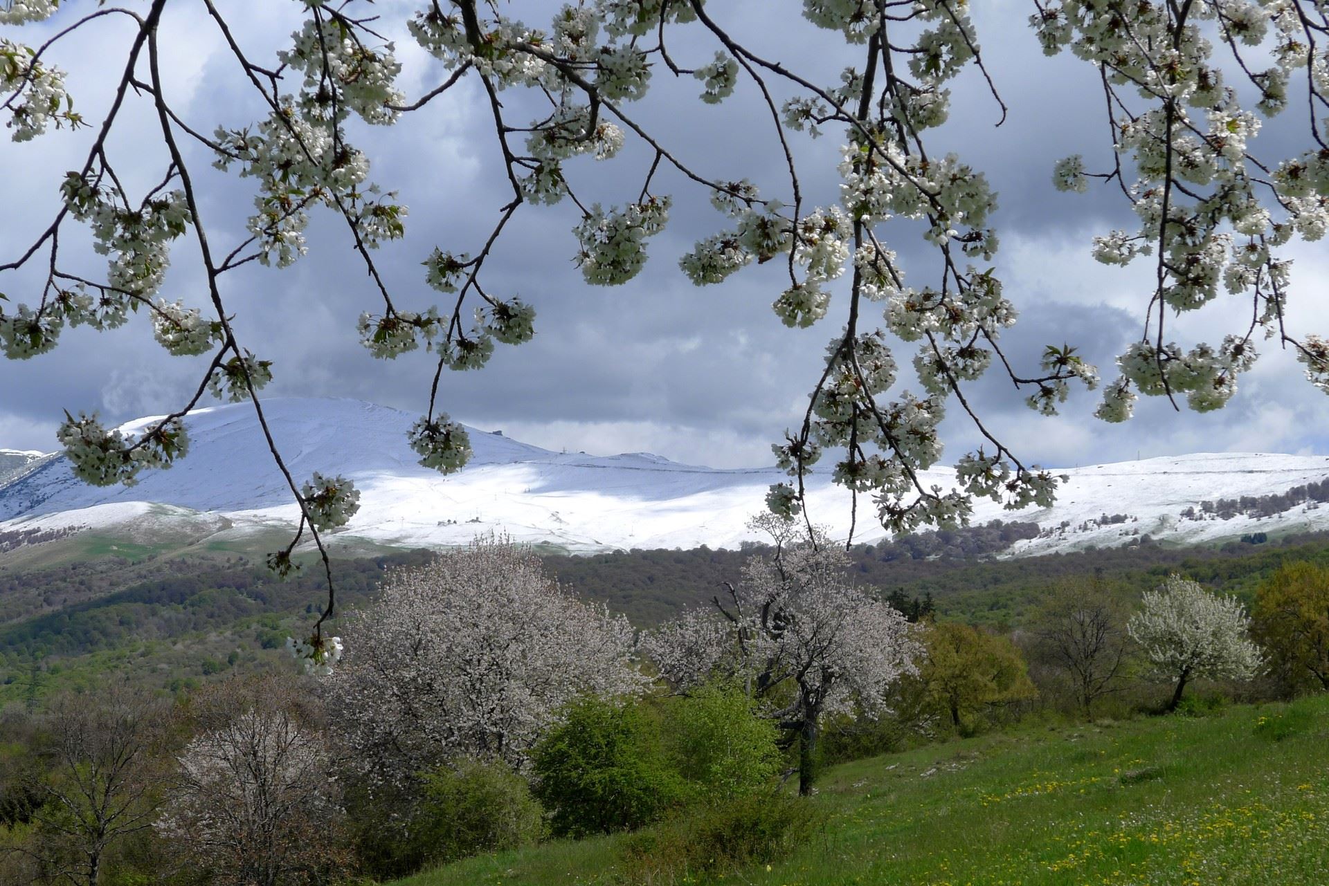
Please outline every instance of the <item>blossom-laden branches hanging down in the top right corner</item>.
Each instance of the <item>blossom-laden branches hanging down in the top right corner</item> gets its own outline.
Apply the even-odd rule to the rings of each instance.
[[[1181,315],[1223,292],[1255,303],[1251,328],[1228,335],[1221,347],[1181,351],[1163,341],[1162,325],[1154,341],[1131,345],[1118,360],[1122,376],[1104,388],[1102,418],[1128,418],[1136,395],[1184,393],[1193,409],[1220,408],[1253,365],[1251,333],[1263,327],[1267,336],[1286,336],[1289,263],[1273,250],[1293,235],[1318,240],[1329,230],[1326,161],[1318,149],[1281,163],[1252,151],[1261,117],[1286,108],[1294,76],[1305,69],[1312,108],[1329,85],[1324,53],[1306,39],[1314,31],[1302,7],[1296,0],[1183,8],[1146,1],[1123,19],[1107,0],[1058,0],[1030,17],[1046,53],[1069,49],[1102,66],[1112,90],[1119,159],[1115,171],[1098,177],[1116,178],[1127,190],[1139,228],[1095,238],[1094,256],[1128,264],[1156,255],[1151,310]],[[1224,64],[1216,45],[1237,64]],[[1243,93],[1253,109],[1243,108]],[[1310,126],[1320,141],[1325,121],[1313,112]],[[1134,182],[1126,178],[1132,167]],[[1083,191],[1086,175],[1075,155],[1057,163],[1053,179],[1061,190]]]

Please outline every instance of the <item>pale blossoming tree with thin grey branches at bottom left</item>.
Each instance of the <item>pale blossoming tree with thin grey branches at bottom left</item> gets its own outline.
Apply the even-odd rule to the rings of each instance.
[[[347,863],[340,790],[310,699],[280,679],[211,688],[157,833],[210,883],[322,883]]]

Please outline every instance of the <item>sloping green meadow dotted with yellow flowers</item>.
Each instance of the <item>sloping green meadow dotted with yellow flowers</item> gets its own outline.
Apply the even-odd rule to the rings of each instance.
[[[1321,886],[1329,696],[930,745],[832,768],[809,802],[825,825],[795,855],[668,882]],[[627,883],[619,842],[550,842],[397,886]]]

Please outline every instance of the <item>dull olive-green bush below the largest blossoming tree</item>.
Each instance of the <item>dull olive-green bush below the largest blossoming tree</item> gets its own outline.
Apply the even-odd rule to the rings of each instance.
[[[427,862],[453,861],[538,842],[544,809],[526,780],[502,761],[461,760],[428,773],[413,830],[432,847]]]

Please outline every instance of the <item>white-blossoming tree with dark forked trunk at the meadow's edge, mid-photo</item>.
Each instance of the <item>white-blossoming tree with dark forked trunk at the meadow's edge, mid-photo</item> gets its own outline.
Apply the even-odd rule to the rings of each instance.
[[[773,531],[775,553],[744,565],[716,612],[684,612],[643,636],[642,650],[680,691],[716,672],[743,679],[797,739],[799,793],[808,794],[823,719],[885,709],[892,684],[917,672],[922,646],[898,610],[849,582],[841,547],[775,514],[754,525]]]

